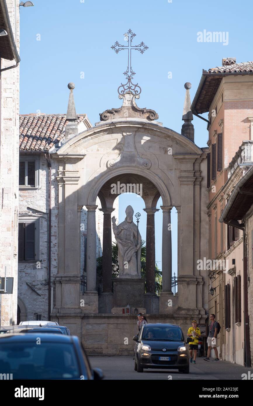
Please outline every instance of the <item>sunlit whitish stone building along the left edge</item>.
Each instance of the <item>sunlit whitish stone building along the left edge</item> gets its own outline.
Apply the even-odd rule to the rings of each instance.
[[[0,277],[14,278],[13,294],[1,294],[0,324],[16,322],[19,1],[0,0]]]

